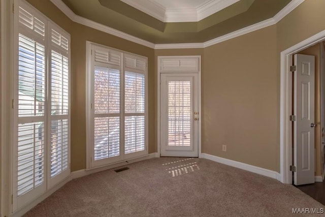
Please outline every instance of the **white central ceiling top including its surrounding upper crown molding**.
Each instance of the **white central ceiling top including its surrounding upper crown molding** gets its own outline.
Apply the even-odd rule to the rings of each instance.
[[[163,22],[198,22],[240,0],[120,0]]]

